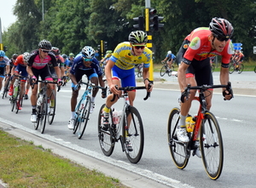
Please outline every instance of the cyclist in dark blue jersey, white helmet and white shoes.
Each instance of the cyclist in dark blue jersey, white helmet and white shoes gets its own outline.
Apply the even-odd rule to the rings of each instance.
[[[73,129],[75,122],[75,107],[77,105],[77,98],[79,96],[78,83],[84,76],[84,74],[90,79],[91,83],[95,83],[102,87],[105,87],[105,84],[102,79],[102,69],[99,65],[98,60],[95,58],[95,50],[90,46],[85,46],[82,48],[82,53],[78,54],[73,61],[73,66],[71,67],[69,77],[72,81],[72,97],[71,97],[71,118],[67,124],[67,128]],[[90,113],[93,112],[95,107],[95,97],[99,88],[94,88],[92,91]],[[102,94],[102,98],[106,94]]]

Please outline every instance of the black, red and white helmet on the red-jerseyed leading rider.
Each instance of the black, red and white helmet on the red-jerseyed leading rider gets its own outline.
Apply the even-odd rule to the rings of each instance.
[[[223,18],[212,18],[209,27],[213,34],[220,37],[230,38],[234,32],[234,28],[230,22],[228,20],[224,20]]]

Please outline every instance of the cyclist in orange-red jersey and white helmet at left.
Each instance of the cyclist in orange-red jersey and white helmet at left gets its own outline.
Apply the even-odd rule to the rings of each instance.
[[[26,72],[26,65],[27,65],[27,60],[29,59],[30,54],[28,52],[25,52],[24,54],[20,54],[17,59],[15,60],[14,67],[12,68],[11,75],[12,77],[14,76],[21,76],[20,80],[20,96],[23,96],[25,92],[25,84],[26,84],[26,79],[27,79],[27,72]],[[13,90],[14,90],[14,83],[17,77],[14,77],[9,84],[9,95],[13,95]],[[20,104],[18,104],[19,110],[21,110]]]

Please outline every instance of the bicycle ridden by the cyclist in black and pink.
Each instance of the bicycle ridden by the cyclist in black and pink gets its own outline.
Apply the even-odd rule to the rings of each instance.
[[[47,80],[40,81],[38,80],[38,83],[43,83],[42,88],[40,88],[38,93],[38,100],[37,100],[37,122],[34,123],[35,130],[38,130],[38,127],[40,125],[40,132],[41,134],[44,134],[46,119],[49,119],[49,101],[51,94],[54,93],[54,90],[51,90],[51,94],[49,94],[49,97],[47,96],[47,88],[49,87],[49,83],[57,84],[55,82],[50,82]],[[34,83],[32,84],[32,88],[34,86]],[[48,118],[47,118],[48,117]],[[54,116],[53,116],[54,117]],[[53,118],[52,118],[53,120]]]

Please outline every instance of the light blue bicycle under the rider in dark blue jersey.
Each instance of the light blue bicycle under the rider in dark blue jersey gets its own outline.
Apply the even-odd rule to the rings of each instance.
[[[91,105],[91,91],[93,88],[101,88],[102,91],[106,90],[106,88],[102,88],[100,86],[96,86],[94,83],[90,83],[88,80],[87,83],[84,83],[82,80],[79,81],[78,85],[80,87],[81,84],[85,84],[86,88],[84,90],[84,94],[82,95],[81,99],[79,100],[78,105],[76,105],[75,112],[76,112],[76,119],[75,125],[73,128],[73,134],[76,134],[78,131],[79,139],[82,138],[84,134],[84,130],[86,128],[87,122],[89,121],[90,116],[90,105]],[[84,123],[84,125],[83,125]]]

